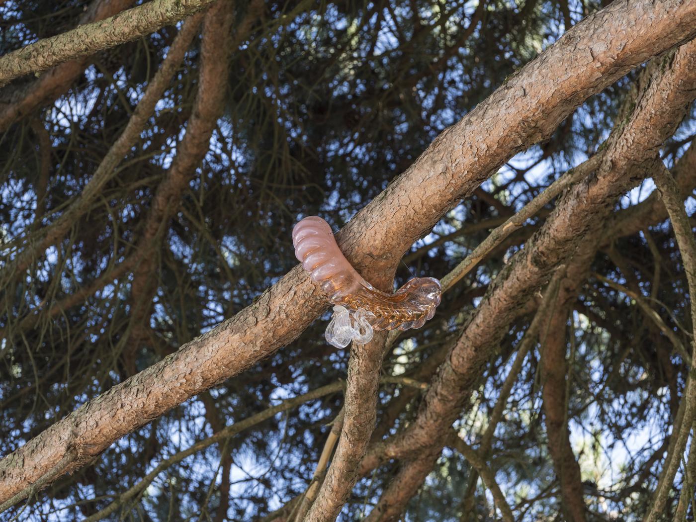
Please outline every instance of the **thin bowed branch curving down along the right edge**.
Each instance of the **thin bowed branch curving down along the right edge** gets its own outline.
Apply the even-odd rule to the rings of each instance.
[[[689,295],[696,295],[696,239],[694,238],[691,223],[682,205],[679,186],[674,182],[674,177],[667,168],[656,171],[653,177],[667,213],[670,214],[674,236],[677,237],[681,260],[686,272]],[[691,306],[691,324],[696,328],[696,306]],[[665,504],[674,484],[674,475],[686,448],[686,441],[691,432],[696,418],[696,337],[692,342],[692,361],[689,367],[689,376],[686,381],[681,402],[684,404],[683,421],[678,429],[678,434],[671,453],[667,454],[665,465],[660,476],[660,482],[651,501],[651,508],[645,516],[645,522],[657,521],[665,511]],[[681,406],[681,405],[680,405]],[[670,441],[671,442],[671,441]]]

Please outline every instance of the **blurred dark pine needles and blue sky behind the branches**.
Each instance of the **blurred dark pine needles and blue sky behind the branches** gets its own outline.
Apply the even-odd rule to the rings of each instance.
[[[67,31],[86,6],[77,0],[4,2],[0,54]],[[164,223],[163,240],[152,245],[156,288],[136,312],[129,299],[132,269],[109,274],[134,252],[191,116],[197,38],[118,175],[88,212],[60,242],[36,255],[27,271],[0,277],[1,453],[248,306],[296,264],[290,231],[301,216],[318,214],[338,230],[445,127],[601,7],[595,0],[264,1],[262,16],[232,54],[225,110],[209,151],[177,212]],[[239,0],[239,19],[246,9]],[[0,263],[15,258],[74,203],[127,125],[176,33],[168,27],[97,54],[54,103],[0,134]],[[509,161],[448,212],[406,254],[397,283],[411,274],[444,276],[500,219],[596,152],[634,77],[592,97],[551,140]],[[13,103],[32,80],[0,90],[0,104]],[[668,166],[693,134],[689,120],[665,145]],[[621,206],[637,203],[650,189],[634,191]],[[692,213],[693,205],[688,209]],[[449,342],[544,216],[445,294],[432,322],[395,344],[385,372],[416,374]],[[669,226],[652,228],[651,241],[662,253],[660,264],[644,235],[633,235],[617,239],[615,254],[598,253],[593,270],[622,284],[635,282],[660,301],[665,322],[691,331],[686,281]],[[655,271],[661,278],[653,288]],[[96,289],[70,302],[95,281],[101,281]],[[143,315],[148,336],[132,346],[130,333]],[[491,358],[458,421],[472,445],[487,425],[528,319],[514,326]],[[95,463],[32,498],[18,518],[95,514],[159,461],[219,427],[345,377],[348,351],[324,342],[325,326],[324,320],[315,322],[273,357],[120,439]],[[583,287],[573,326],[568,418],[588,517],[638,520],[656,483],[659,466],[651,457],[671,425],[685,366],[631,299],[595,278]],[[676,331],[688,344],[688,335]],[[561,519],[541,422],[538,360],[539,351],[532,351],[489,459],[521,521]],[[404,395],[404,389],[383,386],[379,434],[393,432],[415,413],[419,394]],[[402,408],[394,415],[389,405],[399,397]],[[265,516],[304,491],[341,404],[342,394],[334,393],[196,452],[162,471],[110,518]],[[387,465],[358,483],[345,520],[370,511],[393,471]],[[468,477],[466,460],[445,449],[406,519],[494,519],[491,496],[482,483],[468,484]],[[467,497],[473,509],[464,508]]]

